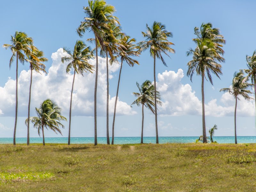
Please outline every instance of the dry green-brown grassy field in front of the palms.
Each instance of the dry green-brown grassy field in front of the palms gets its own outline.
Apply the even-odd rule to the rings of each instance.
[[[256,191],[255,144],[0,145],[0,191]]]

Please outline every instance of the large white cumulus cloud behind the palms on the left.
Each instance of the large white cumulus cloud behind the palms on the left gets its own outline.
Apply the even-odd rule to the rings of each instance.
[[[56,101],[62,108],[64,114],[69,112],[70,93],[73,80],[73,74],[66,73],[67,63],[61,62],[61,57],[65,53],[63,49],[58,49],[52,53],[52,66],[47,74],[33,73],[33,83],[31,92],[31,115],[34,115],[35,107],[46,98]],[[91,59],[90,63],[96,65],[96,60]],[[118,62],[109,66],[109,78],[120,67]],[[84,76],[76,75],[73,99],[72,115],[73,116],[93,116],[94,115],[94,83],[95,73],[84,73]],[[28,91],[30,84],[30,70],[23,70],[18,77],[18,115],[27,116],[28,113]],[[99,57],[98,71],[98,89],[97,89],[97,115],[106,115],[106,59]],[[15,80],[9,78],[4,87],[0,87],[0,115],[13,116],[15,109]],[[109,95],[109,113],[114,112],[115,97]],[[117,100],[117,115],[133,115],[130,106]]]

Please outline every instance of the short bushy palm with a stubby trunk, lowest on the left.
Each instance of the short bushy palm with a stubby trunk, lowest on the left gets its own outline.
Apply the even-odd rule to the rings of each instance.
[[[59,126],[64,128],[64,125],[60,123],[60,121],[67,121],[67,119],[61,115],[61,108],[50,99],[44,100],[40,103],[40,107],[36,108],[37,117],[30,117],[26,119],[25,124],[27,125],[29,121],[34,123],[34,127],[38,130],[38,135],[40,136],[40,131],[43,133],[43,145],[44,142],[44,127],[48,130],[51,129],[56,134],[61,131]],[[62,135],[62,134],[61,134]]]

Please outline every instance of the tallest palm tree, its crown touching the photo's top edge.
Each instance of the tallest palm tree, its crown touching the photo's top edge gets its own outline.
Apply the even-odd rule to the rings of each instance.
[[[117,18],[112,14],[115,12],[115,7],[106,4],[104,0],[88,1],[89,6],[84,7],[84,21],[76,29],[79,36],[83,36],[85,31],[90,30],[95,36],[95,52],[96,52],[96,73],[94,87],[94,145],[97,145],[97,81],[98,81],[98,41],[102,48],[104,44],[102,36],[104,30],[109,30],[110,23],[119,23]]]

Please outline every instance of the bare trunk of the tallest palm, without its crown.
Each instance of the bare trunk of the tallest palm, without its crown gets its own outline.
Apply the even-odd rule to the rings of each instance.
[[[97,82],[98,82],[98,42],[97,35],[95,35],[95,51],[96,51],[96,72],[95,72],[95,86],[94,86],[94,145],[97,145]]]

